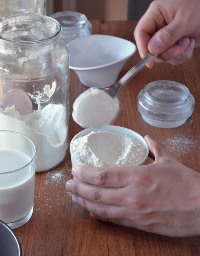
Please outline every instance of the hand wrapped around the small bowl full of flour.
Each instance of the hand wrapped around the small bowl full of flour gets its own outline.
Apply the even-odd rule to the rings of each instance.
[[[145,137],[155,161],[146,166],[76,166],[72,200],[93,218],[166,236],[200,235],[200,174]]]

